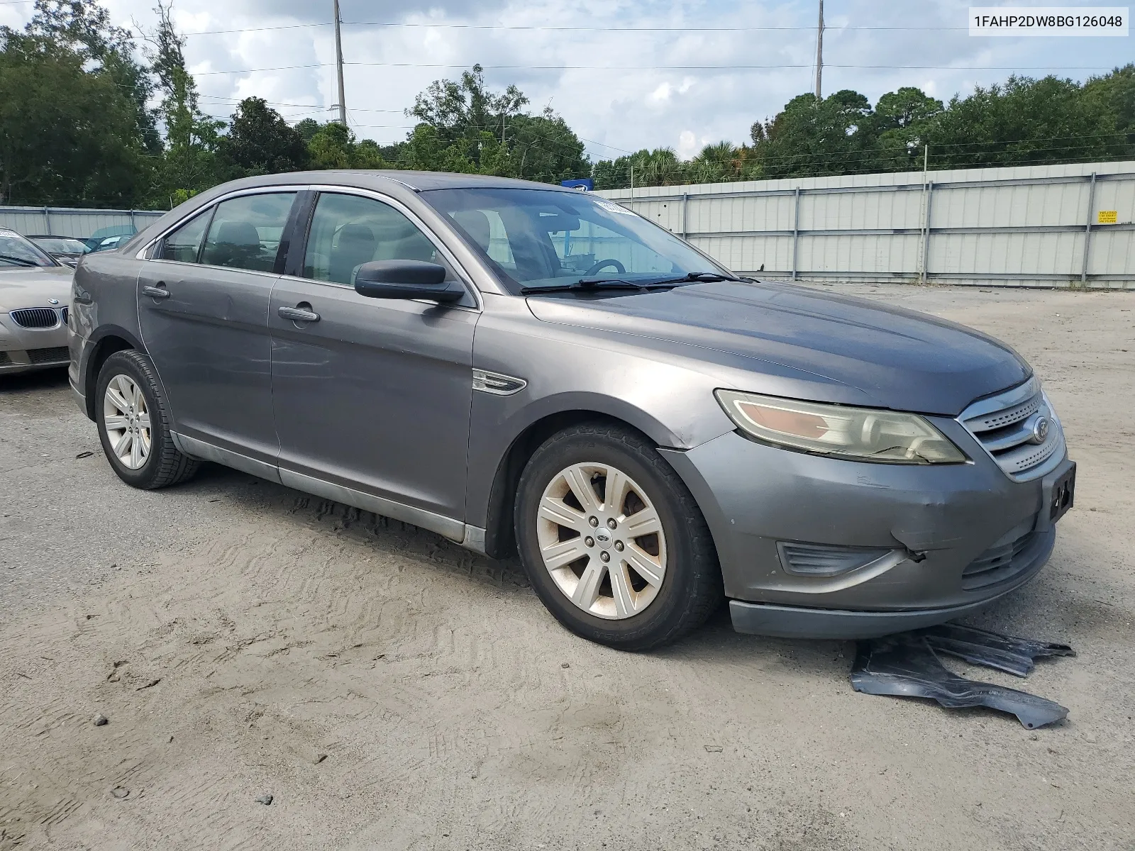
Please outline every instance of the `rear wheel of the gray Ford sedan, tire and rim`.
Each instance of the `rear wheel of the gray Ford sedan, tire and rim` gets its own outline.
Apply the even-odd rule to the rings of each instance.
[[[108,388],[112,382],[118,403],[108,396]],[[131,398],[131,393],[125,391],[126,388],[137,389],[136,398],[141,401],[141,405],[135,407],[132,404],[134,398]],[[134,488],[154,490],[183,482],[197,472],[201,462],[182,454],[174,446],[169,405],[158,384],[153,362],[146,355],[135,349],[110,355],[99,370],[95,394],[94,413],[99,440],[102,441],[107,461],[119,479]],[[125,406],[119,403],[125,403]],[[127,407],[128,411],[125,410]],[[149,430],[144,428],[145,424],[149,424]],[[126,431],[131,432],[128,443],[123,440]],[[126,448],[116,452],[119,447]],[[135,447],[140,447],[136,455]],[[120,455],[125,457],[119,457]]]

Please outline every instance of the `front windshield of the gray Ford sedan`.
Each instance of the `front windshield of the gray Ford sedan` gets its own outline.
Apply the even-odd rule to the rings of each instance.
[[[514,295],[581,278],[648,281],[724,272],[669,230],[582,192],[431,189],[421,197],[490,261]]]

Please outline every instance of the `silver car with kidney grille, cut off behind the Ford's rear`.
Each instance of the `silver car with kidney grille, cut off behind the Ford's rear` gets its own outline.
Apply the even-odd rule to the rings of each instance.
[[[66,366],[72,269],[0,228],[0,376]]]

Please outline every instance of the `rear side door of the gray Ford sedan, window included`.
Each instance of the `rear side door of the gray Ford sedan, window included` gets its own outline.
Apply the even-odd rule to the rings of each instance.
[[[137,280],[142,338],[186,448],[274,478],[268,303],[296,195],[264,191],[221,201],[167,234]]]

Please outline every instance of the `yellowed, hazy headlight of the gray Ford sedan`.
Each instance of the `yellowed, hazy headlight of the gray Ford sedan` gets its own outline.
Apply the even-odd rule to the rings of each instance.
[[[869,407],[716,390],[717,402],[747,435],[775,446],[888,464],[959,464],[966,461],[924,416]]]

